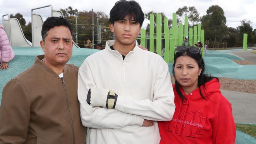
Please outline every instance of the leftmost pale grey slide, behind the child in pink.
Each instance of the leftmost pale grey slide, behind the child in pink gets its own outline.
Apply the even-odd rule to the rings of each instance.
[[[19,20],[17,18],[10,18],[10,35],[11,46],[28,47],[32,46],[32,43],[28,41],[21,29]]]

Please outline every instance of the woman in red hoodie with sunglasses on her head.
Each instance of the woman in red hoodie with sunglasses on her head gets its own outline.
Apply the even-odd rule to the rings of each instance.
[[[232,107],[221,94],[219,79],[204,74],[197,47],[177,46],[173,119],[159,122],[160,144],[234,144]]]

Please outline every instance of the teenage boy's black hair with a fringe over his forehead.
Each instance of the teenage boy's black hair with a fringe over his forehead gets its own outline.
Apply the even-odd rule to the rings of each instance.
[[[136,22],[139,22],[140,27],[145,19],[141,6],[137,2],[134,0],[119,0],[110,11],[109,23],[114,24],[115,21],[122,20],[126,16],[129,16],[130,19],[134,18]]]

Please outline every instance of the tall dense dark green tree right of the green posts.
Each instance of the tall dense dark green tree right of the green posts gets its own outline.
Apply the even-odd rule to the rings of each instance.
[[[206,39],[222,41],[227,33],[226,17],[224,11],[218,5],[210,6],[206,15],[201,18],[202,29],[204,29]]]

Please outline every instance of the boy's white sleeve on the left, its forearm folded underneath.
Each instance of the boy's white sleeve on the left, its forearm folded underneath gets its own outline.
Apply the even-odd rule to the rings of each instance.
[[[122,113],[115,109],[92,107],[86,102],[90,88],[96,87],[89,65],[86,60],[78,71],[78,100],[80,102],[80,116],[83,126],[96,129],[120,129],[126,126],[142,126],[141,116]]]

